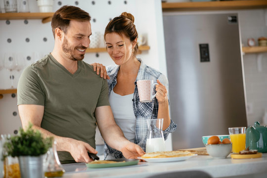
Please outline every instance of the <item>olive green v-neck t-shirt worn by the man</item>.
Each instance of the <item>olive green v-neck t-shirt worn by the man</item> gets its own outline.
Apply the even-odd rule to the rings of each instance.
[[[18,105],[45,106],[41,127],[95,148],[96,107],[109,105],[108,85],[84,61],[71,74],[48,54],[27,67],[18,83]],[[61,163],[73,163],[69,152],[58,152]]]

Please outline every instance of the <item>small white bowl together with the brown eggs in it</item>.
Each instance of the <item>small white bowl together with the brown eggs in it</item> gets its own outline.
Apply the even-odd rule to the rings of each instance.
[[[223,138],[221,141],[219,136],[210,136],[205,145],[207,152],[213,158],[226,158],[232,151],[232,143],[229,138]]]

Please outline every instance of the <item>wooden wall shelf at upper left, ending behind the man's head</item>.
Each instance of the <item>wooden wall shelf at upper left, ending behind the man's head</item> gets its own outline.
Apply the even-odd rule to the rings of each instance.
[[[0,13],[0,20],[42,19],[43,23],[47,23],[51,21],[53,14],[53,12]]]

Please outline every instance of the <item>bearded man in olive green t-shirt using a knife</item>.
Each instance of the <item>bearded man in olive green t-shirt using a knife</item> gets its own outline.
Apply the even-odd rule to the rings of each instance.
[[[96,154],[95,128],[108,145],[126,158],[144,154],[116,125],[108,102],[106,80],[83,62],[91,35],[90,16],[75,6],[62,6],[51,20],[53,51],[27,67],[18,84],[22,127],[29,122],[44,136],[57,141],[62,164],[92,161]]]

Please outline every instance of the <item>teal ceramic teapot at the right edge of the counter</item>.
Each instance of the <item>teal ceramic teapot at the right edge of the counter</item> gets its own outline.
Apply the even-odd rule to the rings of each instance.
[[[246,131],[246,148],[257,149],[258,152],[267,152],[267,127],[255,122]]]

